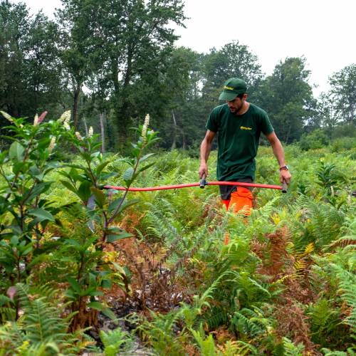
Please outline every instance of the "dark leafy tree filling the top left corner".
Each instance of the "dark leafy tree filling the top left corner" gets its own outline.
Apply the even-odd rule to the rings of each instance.
[[[24,4],[0,3],[0,108],[14,116],[50,110],[61,97],[56,25]]]

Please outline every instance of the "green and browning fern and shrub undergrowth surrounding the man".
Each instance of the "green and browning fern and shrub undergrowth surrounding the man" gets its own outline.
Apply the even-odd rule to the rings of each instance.
[[[1,355],[130,354],[135,336],[117,310],[130,310],[126,325],[158,355],[355,355],[353,149],[287,147],[288,193],[255,189],[246,218],[226,212],[209,185],[103,190],[197,182],[199,162],[184,152],[142,155],[155,141],[147,127],[127,158],[101,155],[98,137],[63,120],[39,129],[11,120],[17,136],[1,152]],[[51,137],[77,147],[71,162]],[[215,161],[212,152],[208,181]],[[271,149],[257,161],[256,182],[278,184]],[[103,315],[112,330],[100,330]]]

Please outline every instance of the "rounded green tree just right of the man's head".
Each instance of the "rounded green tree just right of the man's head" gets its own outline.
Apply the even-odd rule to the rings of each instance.
[[[308,83],[310,70],[305,58],[286,58],[261,83],[258,103],[266,110],[278,137],[284,142],[298,140],[303,125],[314,115],[315,100]]]

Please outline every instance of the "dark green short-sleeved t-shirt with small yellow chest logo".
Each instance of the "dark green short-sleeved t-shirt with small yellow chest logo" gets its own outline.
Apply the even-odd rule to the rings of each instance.
[[[273,132],[266,111],[250,103],[244,115],[231,114],[227,104],[212,110],[206,129],[217,132],[216,177],[221,181],[255,179],[258,141]]]

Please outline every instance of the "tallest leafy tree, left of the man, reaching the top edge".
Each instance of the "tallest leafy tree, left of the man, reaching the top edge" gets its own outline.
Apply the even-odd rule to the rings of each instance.
[[[164,63],[177,39],[169,24],[182,24],[183,4],[181,0],[99,1],[95,12],[95,43],[112,88],[122,145],[132,117],[142,109],[150,112],[154,100],[159,100]]]

